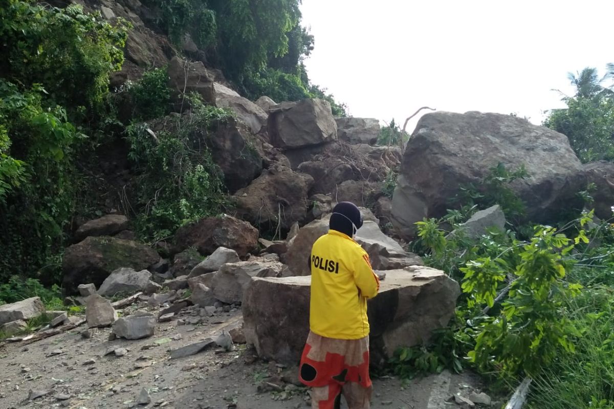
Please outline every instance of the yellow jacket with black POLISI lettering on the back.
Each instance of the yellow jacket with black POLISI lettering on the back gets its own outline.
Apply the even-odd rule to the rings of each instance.
[[[311,250],[309,326],[317,335],[359,339],[369,335],[367,299],[379,291],[366,251],[348,235],[330,230]]]

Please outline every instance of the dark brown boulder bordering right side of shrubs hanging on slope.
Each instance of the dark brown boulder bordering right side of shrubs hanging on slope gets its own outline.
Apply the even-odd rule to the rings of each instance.
[[[209,132],[204,142],[224,174],[224,183],[233,193],[249,185],[262,172],[262,157],[243,124],[230,119]]]

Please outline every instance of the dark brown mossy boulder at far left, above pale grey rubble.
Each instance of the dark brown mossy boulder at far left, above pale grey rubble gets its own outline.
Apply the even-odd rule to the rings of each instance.
[[[63,288],[67,292],[76,292],[77,286],[89,283],[99,288],[111,272],[121,267],[141,271],[158,261],[160,256],[152,248],[131,240],[87,237],[64,250]]]

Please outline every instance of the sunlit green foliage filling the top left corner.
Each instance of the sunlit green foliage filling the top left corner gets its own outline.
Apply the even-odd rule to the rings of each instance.
[[[95,107],[109,86],[109,72],[123,63],[128,26],[110,25],[82,6],[66,9],[32,1],[2,0],[0,72],[9,82],[40,83],[57,104]]]

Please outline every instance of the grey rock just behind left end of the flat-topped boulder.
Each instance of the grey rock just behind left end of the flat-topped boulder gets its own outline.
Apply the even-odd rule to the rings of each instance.
[[[278,277],[281,262],[239,261],[225,264],[211,283],[213,295],[226,304],[239,304],[252,277]]]

